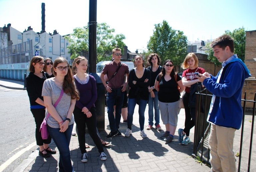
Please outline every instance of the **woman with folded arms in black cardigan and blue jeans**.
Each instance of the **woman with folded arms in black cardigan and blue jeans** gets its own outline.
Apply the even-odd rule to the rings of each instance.
[[[134,108],[138,103],[140,135],[142,138],[146,138],[147,135],[144,132],[144,113],[148,102],[148,86],[150,84],[151,77],[149,69],[145,68],[143,65],[144,60],[141,55],[135,56],[134,61],[136,67],[130,70],[128,78],[128,85],[131,89],[129,91],[128,99],[127,130],[124,136],[129,137],[132,133]]]

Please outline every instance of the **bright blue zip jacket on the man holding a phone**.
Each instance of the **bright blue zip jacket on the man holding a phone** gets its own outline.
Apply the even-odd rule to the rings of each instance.
[[[223,68],[217,83],[219,74],[203,81],[203,85],[216,96],[208,121],[218,126],[239,129],[243,118],[241,92],[244,80],[251,74],[239,58],[233,59]]]

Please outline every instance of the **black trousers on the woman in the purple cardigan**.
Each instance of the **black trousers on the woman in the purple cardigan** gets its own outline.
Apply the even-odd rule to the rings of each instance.
[[[92,107],[89,110],[92,113],[92,116],[90,118],[87,118],[86,114],[82,112],[81,109],[79,109],[77,106],[75,106],[74,109],[74,118],[78,130],[78,142],[79,142],[79,147],[81,150],[81,153],[86,153],[86,148],[85,148],[85,126],[87,125],[89,134],[95,143],[96,147],[99,150],[99,153],[104,152],[103,151],[103,146],[100,141],[99,136],[97,135],[97,116],[96,116],[96,109],[95,107]],[[85,125],[86,124],[86,125]]]

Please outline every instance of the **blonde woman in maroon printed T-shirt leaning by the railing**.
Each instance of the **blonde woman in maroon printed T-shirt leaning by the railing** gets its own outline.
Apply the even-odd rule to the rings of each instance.
[[[183,145],[187,145],[190,143],[189,133],[190,129],[195,126],[195,113],[196,108],[195,106],[192,107],[191,104],[189,105],[189,100],[193,95],[190,94],[191,86],[200,82],[199,79],[196,78],[195,72],[203,74],[205,70],[203,68],[198,67],[198,59],[195,53],[188,53],[184,62],[182,63],[181,67],[186,69],[183,71],[182,74],[182,84],[186,87],[185,94],[183,96],[183,103],[185,107],[185,128],[179,129],[179,142]],[[193,86],[194,87],[194,86]],[[186,135],[185,139],[183,140],[184,136]]]

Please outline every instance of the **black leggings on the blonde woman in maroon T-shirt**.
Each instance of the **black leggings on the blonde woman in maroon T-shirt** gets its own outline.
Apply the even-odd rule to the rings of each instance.
[[[190,129],[195,126],[195,112],[196,108],[189,108],[189,93],[185,92],[185,95],[183,97],[183,103],[185,107],[185,128],[184,132],[186,133],[186,136],[189,136]]]

